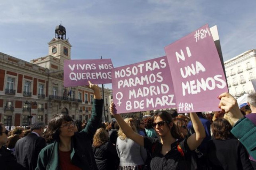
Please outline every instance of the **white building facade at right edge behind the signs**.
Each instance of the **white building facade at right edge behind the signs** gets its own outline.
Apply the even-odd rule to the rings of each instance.
[[[238,98],[255,92],[256,49],[248,50],[224,62],[229,93]]]

